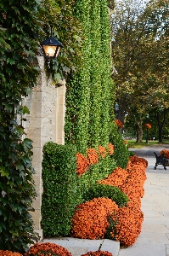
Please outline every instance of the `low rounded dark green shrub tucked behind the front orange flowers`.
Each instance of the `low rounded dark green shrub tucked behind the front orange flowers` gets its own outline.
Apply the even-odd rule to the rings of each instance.
[[[128,198],[127,195],[124,194],[121,189],[110,186],[107,184],[94,184],[91,186],[86,195],[86,201],[91,201],[93,198],[99,198],[99,197],[108,197],[112,201],[115,201],[115,203],[119,207],[123,207],[127,204]]]

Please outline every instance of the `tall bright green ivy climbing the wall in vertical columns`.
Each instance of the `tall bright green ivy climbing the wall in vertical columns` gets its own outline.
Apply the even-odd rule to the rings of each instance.
[[[106,1],[76,1],[82,23],[82,67],[67,81],[65,141],[78,152],[109,143],[110,21]]]

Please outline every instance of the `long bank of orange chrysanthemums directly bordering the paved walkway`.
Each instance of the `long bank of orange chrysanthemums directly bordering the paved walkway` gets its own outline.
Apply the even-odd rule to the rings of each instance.
[[[130,199],[126,207],[119,208],[108,218],[110,226],[107,236],[120,241],[124,247],[131,246],[141,232],[144,215],[140,207],[147,165],[146,160],[134,155],[130,157],[126,170],[118,167],[107,178],[99,181],[118,187]]]

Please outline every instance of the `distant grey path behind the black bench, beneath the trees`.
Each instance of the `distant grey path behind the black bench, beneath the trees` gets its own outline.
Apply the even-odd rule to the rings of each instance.
[[[134,151],[138,157],[155,157],[155,154],[160,154],[162,149],[169,150],[169,144],[151,145],[144,148],[129,148],[129,151]]]

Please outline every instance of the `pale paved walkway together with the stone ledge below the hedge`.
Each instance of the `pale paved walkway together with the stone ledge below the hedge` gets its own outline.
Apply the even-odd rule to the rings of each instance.
[[[44,239],[67,248],[73,256],[80,256],[88,251],[96,251],[103,242],[102,250],[113,253],[113,256],[169,256],[169,166],[155,166],[154,151],[159,152],[169,145],[150,146],[135,151],[139,157],[148,160],[147,180],[144,183],[142,211],[144,223],[138,240],[126,249],[120,249],[119,242],[109,239],[82,240],[70,237]]]

